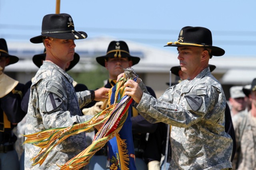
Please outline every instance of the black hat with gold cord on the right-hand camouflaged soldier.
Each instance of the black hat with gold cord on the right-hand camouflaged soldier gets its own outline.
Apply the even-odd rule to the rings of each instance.
[[[180,31],[178,41],[168,42],[166,46],[180,47],[204,47],[211,49],[211,54],[214,56],[222,56],[225,51],[220,47],[212,46],[212,33],[209,29],[204,27],[183,27]]]

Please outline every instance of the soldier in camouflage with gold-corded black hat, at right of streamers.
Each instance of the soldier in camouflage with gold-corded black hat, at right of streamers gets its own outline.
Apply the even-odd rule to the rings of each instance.
[[[177,47],[180,66],[189,78],[168,88],[158,100],[140,79],[128,80],[125,95],[132,96],[148,121],[172,125],[169,170],[232,169],[232,139],[224,128],[226,99],[208,67],[212,55],[225,51],[212,46],[211,31],[204,27],[182,28],[178,41],[167,46]]]

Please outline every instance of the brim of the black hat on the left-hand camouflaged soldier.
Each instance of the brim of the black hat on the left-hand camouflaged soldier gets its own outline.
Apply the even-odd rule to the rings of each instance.
[[[85,38],[87,38],[87,34],[84,31],[77,31],[80,34],[84,34]],[[56,38],[56,39],[76,39],[76,37],[74,35],[77,35],[79,37],[79,39],[84,39],[84,37],[82,37],[82,35],[80,35],[79,33],[48,33],[48,34],[42,34],[42,35],[38,35],[36,37],[33,37],[30,39],[31,43],[42,43],[43,37],[52,37],[52,38]]]

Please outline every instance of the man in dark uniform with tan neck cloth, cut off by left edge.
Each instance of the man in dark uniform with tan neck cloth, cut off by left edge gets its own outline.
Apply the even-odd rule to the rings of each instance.
[[[19,170],[14,143],[14,127],[26,113],[20,107],[24,85],[4,74],[4,68],[17,63],[18,57],[8,53],[5,39],[0,39],[0,169]]]

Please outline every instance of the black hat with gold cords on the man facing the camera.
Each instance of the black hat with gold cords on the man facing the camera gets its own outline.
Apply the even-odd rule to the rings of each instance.
[[[96,61],[105,66],[105,61],[108,58],[115,58],[115,57],[127,57],[129,60],[132,61],[132,65],[138,64],[140,61],[139,57],[134,57],[130,55],[128,45],[124,41],[111,41],[108,45],[107,54],[104,56],[96,57]]]

